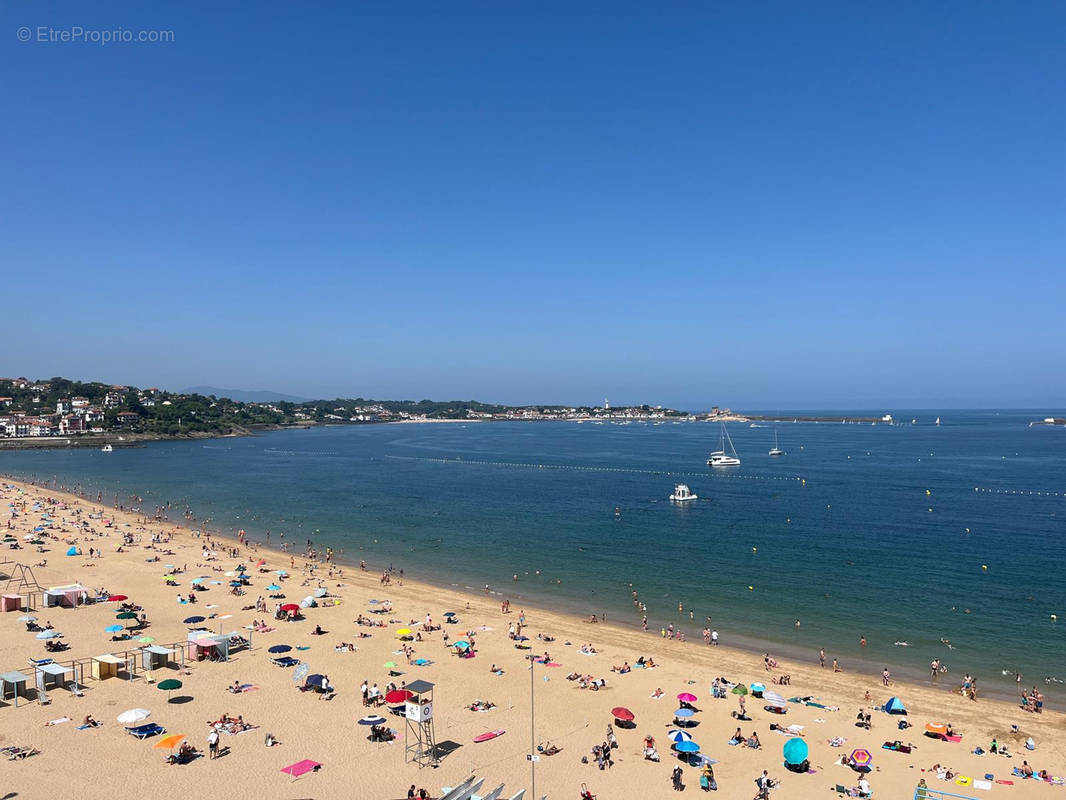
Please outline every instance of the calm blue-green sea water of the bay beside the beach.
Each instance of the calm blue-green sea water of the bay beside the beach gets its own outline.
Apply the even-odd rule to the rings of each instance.
[[[851,669],[920,678],[939,656],[986,691],[1020,670],[1061,706],[1044,678],[1066,679],[1066,430],[1027,427],[1043,412],[940,415],[784,423],[781,459],[769,428],[733,423],[743,464],[726,470],[705,465],[713,425],[494,422],[0,452],[0,473],[635,624],[632,585],[656,627],[698,637],[711,614],[727,643],[825,646]],[[700,499],[669,502],[678,481]]]

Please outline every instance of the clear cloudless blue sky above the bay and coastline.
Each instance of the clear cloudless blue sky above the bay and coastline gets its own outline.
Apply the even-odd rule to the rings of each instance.
[[[1066,404],[1066,4],[334,5],[0,6],[0,374]]]

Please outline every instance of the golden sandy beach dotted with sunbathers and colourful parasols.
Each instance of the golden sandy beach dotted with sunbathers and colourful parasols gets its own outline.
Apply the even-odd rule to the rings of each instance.
[[[910,798],[916,785],[924,780],[931,789],[952,791],[964,797],[1029,798],[1053,796],[1064,790],[1038,779],[1012,774],[1023,762],[1050,777],[1066,775],[1066,717],[1053,708],[1043,714],[1027,713],[1017,704],[980,699],[971,701],[959,693],[938,691],[923,686],[890,682],[879,677],[834,672],[830,662],[818,665],[817,653],[807,663],[785,661],[766,670],[761,654],[728,646],[708,646],[702,641],[680,642],[657,634],[595,624],[577,617],[522,609],[512,604],[502,608],[506,587],[501,593],[470,593],[457,588],[419,583],[392,576],[383,585],[382,574],[373,567],[362,571],[352,566],[333,569],[277,549],[240,544],[232,540],[209,539],[174,522],[146,521],[133,512],[117,511],[53,490],[3,481],[0,502],[4,533],[20,545],[12,549],[5,543],[0,573],[17,572],[17,563],[33,567],[42,588],[80,583],[95,596],[103,588],[108,595],[125,595],[127,601],[101,602],[75,608],[45,608],[41,594],[30,611],[0,613],[0,673],[22,671],[31,687],[18,707],[10,697],[0,703],[0,748],[26,747],[39,752],[26,758],[2,759],[0,796],[17,793],[25,798],[142,797],[158,785],[166,791],[183,795],[235,794],[264,798],[403,798],[413,784],[438,797],[442,786],[453,786],[468,775],[485,779],[484,790],[505,784],[502,797],[512,797],[521,788],[530,797],[531,763],[531,683],[535,694],[535,743],[559,748],[553,755],[542,755],[535,763],[536,797],[577,798],[582,784],[600,800],[609,798],[665,797],[671,793],[671,772],[679,762],[671,751],[667,732],[674,729],[677,695],[689,692],[696,710],[687,732],[700,746],[700,752],[713,759],[716,796],[748,798],[756,795],[756,778],[766,770],[777,786],[770,796],[787,798],[834,797],[835,787],[854,787],[860,774],[841,764],[856,749],[872,754],[868,780],[874,796]],[[36,535],[44,544],[33,545]],[[123,544],[124,539],[128,541]],[[160,540],[160,541],[154,541]],[[300,545],[302,543],[294,543]],[[122,545],[119,547],[119,545]],[[68,548],[80,555],[66,556]],[[98,557],[90,557],[90,549]],[[209,556],[205,558],[205,550]],[[232,553],[236,550],[236,553]],[[94,555],[96,555],[94,553]],[[46,562],[44,566],[35,566]],[[164,575],[173,573],[172,585]],[[247,586],[244,594],[230,591],[229,582],[243,564]],[[182,569],[184,567],[184,569]],[[280,578],[274,572],[285,570]],[[233,575],[227,575],[233,573]],[[203,576],[203,591],[195,592],[195,604],[181,604],[193,593],[192,581]],[[280,590],[266,586],[278,580]],[[219,581],[219,582],[213,582]],[[0,589],[6,577],[0,578]],[[279,603],[301,603],[316,590],[325,590],[318,606],[303,611],[296,622],[274,620]],[[20,593],[29,590],[22,588]],[[271,595],[285,595],[272,597]],[[246,609],[263,597],[266,612]],[[387,610],[385,602],[388,601]],[[131,639],[114,641],[113,625],[128,626],[138,620],[117,620],[123,602],[132,603],[146,614],[147,624],[131,631]],[[441,624],[445,613],[453,612],[455,624]],[[45,640],[30,631],[23,614],[36,618],[36,624],[51,623],[63,634],[66,650],[48,653]],[[226,661],[196,661],[187,657],[183,668],[152,671],[151,683],[140,668],[131,679],[120,671],[118,677],[93,679],[87,659],[102,654],[135,652],[151,637],[155,644],[187,641],[191,627],[182,621],[207,618],[203,626],[209,633],[237,633],[251,638],[251,646],[230,654]],[[426,618],[432,630],[423,633]],[[356,624],[357,619],[375,624]],[[521,634],[528,641],[516,642],[508,629],[524,619]],[[269,631],[249,631],[254,621],[266,621]],[[316,627],[323,633],[316,635]],[[439,627],[438,627],[439,626]],[[416,640],[405,644],[397,630],[410,628]],[[122,634],[122,631],[114,631]],[[368,635],[360,638],[360,634]],[[474,656],[461,658],[450,642],[473,637]],[[550,637],[546,641],[540,637]],[[420,640],[419,640],[420,639]],[[352,644],[339,647],[341,643]],[[275,666],[269,649],[291,645],[286,655],[306,663],[312,674],[327,676],[333,692],[300,691],[293,670]],[[529,646],[530,650],[519,649]],[[582,652],[582,650],[588,652]],[[591,651],[595,651],[595,653]],[[548,655],[548,663],[535,663],[530,677],[528,656]],[[42,704],[32,688],[33,668],[29,658],[54,658],[61,665],[84,662],[85,681],[79,693],[56,688],[48,691]],[[653,669],[636,668],[619,674],[612,668],[652,659]],[[415,660],[426,661],[423,665]],[[395,668],[387,668],[394,662]],[[498,667],[492,671],[492,666]],[[397,673],[397,674],[391,674]],[[499,673],[499,674],[498,674]],[[591,675],[605,679],[594,690],[581,688],[568,675]],[[774,678],[790,677],[788,685],[772,685]],[[728,678],[724,698],[711,695],[715,678]],[[181,687],[160,690],[168,678]],[[360,685],[366,681],[384,692],[390,682],[427,681],[435,685],[435,726],[442,755],[436,768],[420,769],[405,763],[403,738],[405,723],[382,705],[364,705]],[[944,676],[957,684],[959,675]],[[247,690],[228,690],[235,682]],[[762,701],[745,698],[750,721],[738,722],[739,695],[730,685],[766,685],[786,699],[811,698],[810,704],[789,702],[787,713],[764,709]],[[661,690],[662,697],[655,694]],[[856,725],[860,708],[875,709],[892,697],[906,705],[905,717],[871,710],[871,729]],[[495,707],[471,710],[477,701]],[[633,725],[618,725],[612,709],[625,707],[633,715]],[[132,708],[150,710],[145,722],[155,722],[166,735],[184,734],[201,757],[188,764],[165,762],[171,749],[157,747],[164,736],[139,740],[126,733],[116,717]],[[371,729],[357,721],[381,714],[386,726],[399,733],[398,740],[370,741]],[[80,729],[86,715],[100,725]],[[240,716],[252,725],[241,733],[224,731],[220,736],[220,755],[208,757],[210,723],[226,715]],[[906,719],[910,727],[900,730]],[[54,722],[54,724],[48,724]],[[951,725],[962,735],[948,741],[924,735],[926,723]],[[592,749],[607,738],[613,725],[617,747],[612,750],[610,766],[600,769]],[[730,745],[733,731],[741,727],[745,737],[757,733],[761,747]],[[796,726],[791,733],[772,730]],[[1012,726],[1016,725],[1017,730]],[[230,727],[233,727],[230,725]],[[504,734],[483,742],[474,738],[490,731]],[[273,747],[264,739],[276,738]],[[809,769],[796,773],[785,768],[781,748],[794,735],[809,747]],[[645,737],[652,736],[661,761],[644,757]],[[835,737],[844,739],[830,745]],[[1024,747],[1028,738],[1035,750]],[[1012,755],[990,754],[992,739],[1006,745]],[[909,753],[886,750],[883,743],[900,740],[911,748]],[[976,748],[983,754],[975,754]],[[176,751],[174,751],[176,752]],[[587,758],[587,764],[582,763]],[[322,766],[293,780],[281,769],[303,759]],[[938,778],[933,765],[950,768],[951,780]],[[683,782],[689,793],[699,789],[700,769],[683,767]],[[991,774],[988,786],[983,783]],[[135,781],[131,780],[135,777]],[[956,778],[957,777],[957,778]],[[958,779],[966,779],[959,784]],[[1001,783],[1010,782],[1010,783]],[[165,788],[164,788],[165,787]],[[227,788],[228,787],[228,788]],[[233,787],[240,787],[236,790]],[[216,789],[216,790],[215,790]],[[10,794],[6,796],[11,796]]]

